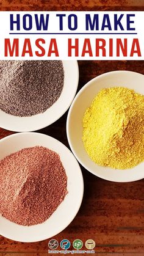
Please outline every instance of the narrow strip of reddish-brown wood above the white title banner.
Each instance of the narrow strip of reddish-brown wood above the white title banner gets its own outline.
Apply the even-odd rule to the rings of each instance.
[[[142,10],[143,0],[0,0],[0,10]]]

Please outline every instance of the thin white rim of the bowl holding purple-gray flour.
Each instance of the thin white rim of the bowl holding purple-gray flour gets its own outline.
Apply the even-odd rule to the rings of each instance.
[[[0,128],[3,128],[3,129],[5,129],[5,130],[7,130],[7,131],[14,131],[14,132],[16,132],[16,133],[28,133],[28,132],[32,132],[32,131],[38,131],[38,130],[41,130],[41,129],[43,129],[43,128],[46,128],[47,126],[49,126],[49,125],[52,125],[52,123],[55,123],[57,120],[59,120],[60,119],[60,117],[62,117],[62,115],[64,115],[65,114],[65,112],[67,112],[67,110],[68,110],[68,108],[70,108],[70,106],[71,106],[71,103],[73,102],[73,100],[74,100],[74,97],[75,97],[75,95],[76,95],[76,92],[77,92],[77,87],[78,87],[78,84],[79,84],[79,65],[78,65],[78,62],[77,62],[77,60],[61,60],[62,62],[63,61],[72,61],[73,63],[74,63],[74,65],[75,65],[75,68],[76,68],[76,73],[75,73],[75,75],[76,75],[76,87],[75,87],[75,90],[73,90],[73,97],[71,98],[71,100],[69,101],[69,103],[67,104],[67,108],[65,108],[62,112],[61,112],[61,114],[59,115],[59,117],[57,118],[54,118],[54,120],[52,121],[52,122],[48,122],[47,124],[45,124],[44,126],[43,125],[37,125],[37,127],[36,128],[34,128],[34,129],[29,129],[29,130],[22,130],[22,129],[19,129],[19,128],[15,128],[15,129],[13,129],[13,128],[9,128],[7,125],[0,125]],[[51,107],[50,107],[51,108]],[[0,111],[2,111],[1,109],[0,109]],[[2,112],[4,112],[4,111],[2,111]],[[5,114],[7,114],[7,113],[5,113]],[[39,113],[39,114],[43,114],[43,113]],[[7,115],[10,115],[10,114],[7,114]],[[35,115],[32,115],[32,117],[33,116],[35,116]],[[18,116],[15,116],[15,115],[13,115],[13,117],[16,117],[16,118],[21,118],[21,117],[18,117]],[[8,117],[9,118],[9,117]],[[24,118],[24,117],[22,117],[22,118]],[[27,117],[26,117],[27,118]],[[29,117],[29,118],[31,118],[31,117]],[[18,122],[18,121],[17,121]]]

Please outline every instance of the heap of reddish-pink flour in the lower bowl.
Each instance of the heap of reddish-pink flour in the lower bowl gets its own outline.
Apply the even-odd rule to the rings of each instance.
[[[0,213],[20,225],[40,224],[67,194],[67,175],[56,152],[24,148],[0,161]]]

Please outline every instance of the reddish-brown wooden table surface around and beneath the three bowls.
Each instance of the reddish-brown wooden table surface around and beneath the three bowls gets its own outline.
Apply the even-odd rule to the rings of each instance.
[[[0,10],[143,10],[144,1],[27,1],[4,0]],[[137,5],[137,6],[135,6]],[[90,79],[112,70],[132,70],[144,74],[143,61],[79,61],[79,87]],[[68,145],[65,124],[67,113],[56,123],[38,132]],[[0,128],[0,138],[12,134]],[[144,183],[113,183],[90,174],[83,167],[84,199],[76,218],[55,236],[59,242],[78,238],[96,242],[96,255],[144,255]],[[131,170],[130,170],[131,172]],[[59,224],[58,224],[59,225]],[[50,255],[48,241],[18,243],[0,236],[0,255]],[[71,247],[72,249],[72,247]],[[53,254],[51,254],[53,255]]]

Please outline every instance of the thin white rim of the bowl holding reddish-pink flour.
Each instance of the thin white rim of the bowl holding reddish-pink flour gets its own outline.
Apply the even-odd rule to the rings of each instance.
[[[4,236],[5,238],[9,238],[10,240],[13,240],[13,241],[18,241],[18,242],[23,242],[23,243],[35,243],[35,242],[38,242],[38,241],[44,241],[44,240],[50,239],[50,238],[52,238],[53,236],[58,235],[60,232],[62,232],[63,230],[65,230],[65,229],[68,227],[68,225],[70,225],[71,222],[74,220],[74,218],[76,217],[77,213],[79,212],[79,209],[81,208],[82,200],[83,200],[83,197],[84,197],[84,177],[83,177],[83,175],[82,175],[81,166],[79,166],[79,162],[77,161],[77,159],[75,158],[75,156],[71,153],[71,150],[70,150],[65,144],[63,144],[63,143],[60,142],[59,140],[57,140],[57,139],[55,139],[54,137],[49,136],[49,135],[47,135],[47,134],[35,133],[35,132],[14,133],[14,134],[10,134],[9,136],[6,136],[6,137],[3,137],[2,139],[0,139],[0,145],[1,145],[1,142],[6,141],[6,140],[9,140],[9,137],[24,136],[24,135],[28,135],[28,134],[29,134],[29,136],[31,136],[31,135],[34,135],[34,136],[45,136],[45,137],[48,137],[48,138],[50,138],[50,139],[53,139],[54,141],[56,141],[57,143],[59,143],[60,145],[62,145],[62,147],[65,148],[65,150],[67,150],[68,153],[70,153],[70,155],[73,156],[74,161],[76,161],[77,167],[79,168],[79,175],[80,175],[80,177],[81,177],[81,187],[82,187],[82,189],[81,189],[81,200],[80,200],[80,202],[79,202],[79,207],[77,207],[77,210],[76,210],[75,213],[73,214],[72,218],[71,218],[69,221],[67,221],[65,225],[63,225],[64,227],[63,227],[62,229],[57,229],[58,231],[57,231],[56,233],[52,234],[52,236],[50,236],[50,237],[46,237],[46,236],[45,236],[45,238],[43,238],[43,239],[41,239],[41,240],[40,240],[40,239],[37,239],[37,240],[31,240],[31,241],[29,241],[29,240],[26,239],[26,240],[21,241],[21,240],[18,240],[18,239],[17,239],[17,240],[14,240],[14,239],[12,239],[12,238],[9,238],[9,236],[2,235],[2,236]],[[31,146],[31,147],[33,147],[33,146]],[[51,148],[50,148],[50,149],[51,149]],[[52,149],[52,150],[53,150],[53,149]],[[0,160],[0,161],[1,161],[1,160]],[[56,211],[57,211],[57,209],[56,209]],[[1,216],[1,214],[0,214],[0,216]],[[50,216],[50,217],[51,217],[51,216]],[[47,219],[46,221],[48,221],[48,219]],[[15,224],[15,222],[13,222],[13,223]],[[43,224],[45,224],[45,222],[43,222],[43,223],[41,223],[41,224],[37,224],[37,225],[43,225]],[[18,224],[16,224],[16,225],[18,225]],[[25,228],[25,227],[27,227],[27,226],[22,226],[22,227]],[[32,227],[32,226],[29,226],[29,227]],[[27,229],[28,229],[29,227],[27,227]],[[28,232],[28,231],[27,231],[27,232]]]

